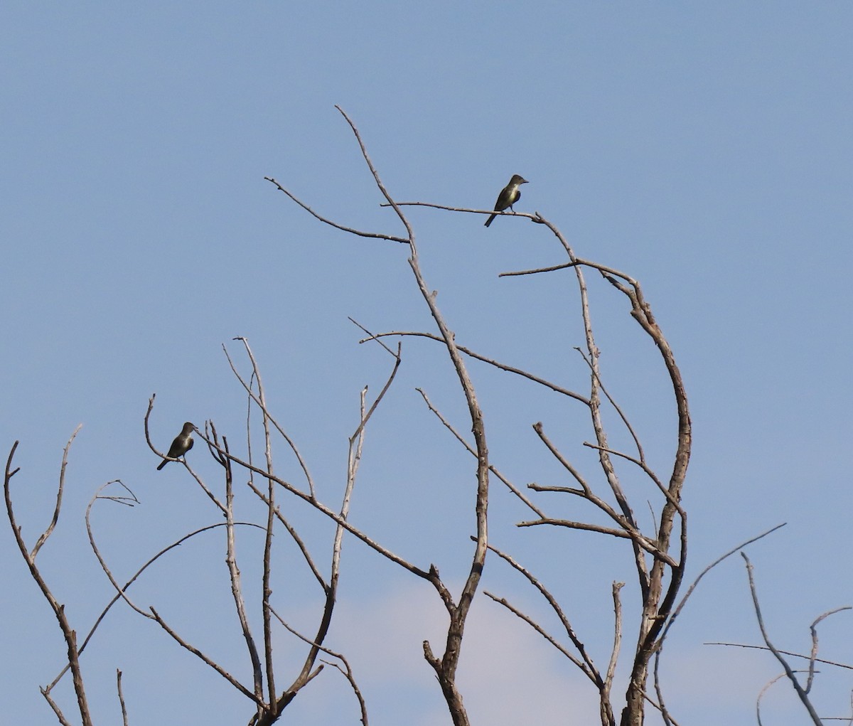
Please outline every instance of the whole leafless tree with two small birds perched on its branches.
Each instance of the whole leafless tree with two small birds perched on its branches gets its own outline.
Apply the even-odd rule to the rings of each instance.
[[[538,212],[498,212],[519,219],[529,219],[536,225],[533,229],[544,231],[555,241],[555,248],[559,253],[559,258],[555,264],[537,269],[506,272],[503,277],[507,284],[512,284],[514,278],[519,276],[560,275],[561,279],[566,279],[567,284],[572,286],[577,294],[577,314],[583,324],[583,344],[577,347],[577,354],[583,359],[583,365],[588,371],[588,379],[583,383],[583,390],[581,390],[577,386],[547,380],[533,371],[503,362],[497,357],[475,351],[472,347],[457,342],[453,326],[438,306],[436,294],[432,292],[432,287],[428,284],[421,270],[415,231],[404,210],[407,206],[427,206],[433,209],[466,214],[490,215],[495,212],[491,209],[468,209],[422,201],[403,202],[396,200],[386,189],[379,172],[370,160],[356,125],[342,110],[339,109],[339,111],[356,137],[363,159],[374,178],[376,188],[385,200],[384,206],[392,210],[398,223],[403,227],[403,234],[392,235],[385,232],[372,232],[339,224],[315,212],[275,178],[267,177],[268,181],[323,224],[331,225],[351,235],[376,241],[392,242],[395,245],[406,245],[409,251],[408,264],[412,280],[421,295],[423,304],[426,305],[432,317],[434,329],[391,330],[371,333],[367,328],[359,326],[365,333],[362,342],[381,346],[389,355],[392,363],[384,386],[376,398],[368,401],[367,388],[363,389],[360,394],[358,423],[351,433],[348,443],[348,468],[343,487],[344,493],[339,504],[334,506],[322,500],[321,494],[316,490],[311,477],[308,462],[300,454],[295,438],[286,432],[268,408],[260,368],[247,340],[235,339],[241,343],[245,352],[248,372],[241,373],[241,366],[235,363],[227,349],[225,354],[236,379],[247,396],[247,415],[244,426],[245,446],[241,445],[241,451],[237,452],[235,446],[229,443],[228,436],[221,433],[224,430],[223,427],[217,427],[212,421],[207,421],[201,438],[205,442],[208,452],[221,468],[223,476],[221,485],[212,485],[205,481],[188,462],[183,462],[183,467],[188,476],[200,487],[200,491],[204,492],[212,506],[212,512],[218,517],[219,521],[216,524],[191,531],[178,542],[165,546],[164,549],[161,549],[159,553],[142,565],[131,578],[122,583],[121,579],[113,574],[107,556],[103,555],[98,547],[90,525],[89,512],[87,512],[86,519],[91,548],[116,593],[113,601],[105,608],[104,613],[115,602],[123,601],[126,606],[131,607],[142,618],[156,624],[178,646],[194,653],[208,667],[217,671],[231,688],[235,688],[237,692],[250,700],[252,715],[247,720],[250,726],[275,723],[301,690],[308,686],[323,670],[326,662],[331,662],[345,676],[349,688],[357,698],[360,718],[367,726],[368,705],[363,698],[361,689],[357,686],[356,677],[349,662],[343,654],[334,652],[326,644],[338,595],[340,555],[345,542],[345,534],[348,534],[367,545],[376,555],[380,555],[394,565],[402,567],[404,571],[416,578],[427,581],[435,590],[439,601],[448,613],[448,624],[443,636],[444,642],[440,646],[435,642],[426,640],[423,642],[423,656],[437,677],[452,723],[455,726],[468,726],[470,720],[463,703],[457,671],[471,605],[479,593],[487,559],[489,561],[494,560],[496,565],[503,563],[517,572],[523,582],[530,584],[538,595],[541,595],[559,623],[560,634],[554,634],[545,624],[538,622],[531,614],[525,613],[521,607],[514,604],[512,596],[500,595],[491,590],[486,591],[485,595],[505,608],[508,613],[512,613],[520,622],[530,626],[533,631],[542,636],[546,642],[577,667],[595,691],[602,726],[616,726],[617,723],[620,723],[621,726],[641,726],[642,723],[645,723],[647,704],[651,704],[659,711],[665,723],[676,723],[665,706],[662,688],[657,678],[655,679],[655,687],[650,688],[649,670],[653,658],[659,657],[670,625],[684,604],[684,599],[679,603],[677,598],[682,587],[688,553],[687,513],[681,502],[691,452],[691,423],[682,375],[663,331],[653,315],[651,305],[645,298],[640,283],[624,272],[610,266],[578,258],[560,229]],[[674,453],[664,473],[653,468],[641,443],[641,435],[632,424],[630,415],[605,385],[606,376],[601,369],[601,352],[595,341],[590,314],[588,282],[585,277],[585,274],[590,272],[598,280],[606,282],[603,287],[624,298],[630,317],[638,326],[641,334],[651,341],[657,350],[661,375],[669,381],[672,400],[675,404],[675,416],[669,427]],[[461,424],[451,421],[449,416],[444,415],[432,403],[426,392],[418,389],[427,409],[436,416],[440,424],[450,433],[452,439],[461,445],[470,456],[473,456],[476,462],[474,471],[476,497],[471,513],[474,546],[473,552],[467,560],[467,576],[456,592],[452,591],[450,585],[441,577],[435,563],[415,564],[380,543],[370,533],[353,526],[349,520],[351,498],[354,496],[368,423],[377,407],[382,403],[386,392],[392,386],[402,360],[401,344],[397,342],[396,347],[389,346],[386,344],[388,338],[397,338],[398,340],[418,338],[429,341],[429,345],[441,346],[447,354],[446,360],[455,381],[456,394],[465,402],[467,421]],[[583,444],[595,452],[599,475],[592,479],[584,474],[582,468],[572,461],[572,457],[560,449],[560,445],[555,442],[554,435],[548,430],[548,427],[541,421],[532,421],[532,432],[541,444],[543,457],[557,462],[566,481],[554,485],[534,482],[527,485],[527,491],[524,487],[514,484],[490,459],[487,439],[489,428],[478,401],[473,375],[467,369],[469,364],[500,369],[517,376],[519,380],[525,380],[536,386],[541,386],[543,390],[559,394],[566,403],[569,415],[577,416],[578,419],[583,417],[589,421],[591,436]],[[162,452],[154,447],[148,430],[149,419],[154,411],[154,400],[154,396],[152,396],[148,402],[148,411],[145,415],[145,433],[151,450],[158,456],[163,456]],[[608,415],[618,422],[619,434],[627,434],[627,439],[632,442],[630,450],[613,448],[610,444],[613,433],[610,432],[608,435],[606,427]],[[461,433],[463,430],[466,432],[470,430],[471,435]],[[259,436],[258,431],[260,432]],[[283,441],[287,444],[292,456],[299,462],[299,468],[304,478],[303,482],[296,484],[276,473],[272,454],[274,441]],[[69,446],[70,444],[69,441]],[[256,453],[258,447],[260,453]],[[66,636],[68,669],[73,674],[82,723],[88,724],[91,721],[86,709],[79,655],[102,618],[98,619],[95,626],[90,630],[83,647],[77,648],[72,626],[67,623],[61,605],[50,594],[47,584],[44,584],[38,567],[35,565],[38,549],[49,537],[59,514],[67,449],[68,447],[63,457],[60,493],[57,497],[54,520],[32,550],[26,548],[23,539],[20,537],[20,528],[17,528],[15,524],[13,506],[9,495],[9,481],[17,472],[17,469],[11,468],[15,446],[10,452],[6,468],[6,504],[10,522],[18,538],[21,554],[30,567],[32,577],[36,579],[45,597],[51,602],[63,635]],[[629,471],[632,476],[639,473],[646,485],[645,489],[634,495],[635,501],[632,501],[622,483],[626,471]],[[235,485],[236,481],[242,480],[244,477],[247,478],[245,489],[242,486]],[[564,603],[560,603],[559,598],[554,594],[554,589],[544,584],[537,577],[537,563],[522,563],[517,555],[505,551],[490,540],[488,506],[490,483],[493,479],[500,482],[500,485],[511,493],[525,513],[518,522],[522,531],[532,531],[533,528],[543,526],[559,527],[564,530],[583,531],[589,537],[609,537],[624,545],[624,556],[630,560],[634,571],[638,597],[636,601],[624,602],[624,583],[617,580],[612,581],[609,595],[612,597],[612,641],[607,644],[608,653],[604,665],[596,662],[592,655],[592,648],[586,645],[587,638],[579,633],[572,624],[570,608],[566,607]],[[120,485],[120,482],[118,484]],[[117,483],[113,482],[111,485],[114,486]],[[126,496],[121,497],[107,496],[102,491],[96,492],[95,497],[90,502],[89,511],[96,502],[102,500],[132,505],[134,503],[132,492],[126,487],[125,489],[127,490]],[[636,491],[636,489],[632,487],[632,491]],[[589,514],[579,514],[572,520],[550,514],[548,506],[543,502],[553,501],[553,498],[546,500],[542,496],[545,493],[548,495],[557,494],[581,502],[582,508],[575,508],[575,511]],[[235,520],[235,497],[246,495],[253,497],[253,501],[262,508],[263,514],[256,522]],[[313,508],[334,524],[334,536],[329,543],[329,552],[327,553],[329,558],[327,568],[324,569],[317,564],[320,561],[319,555],[310,552],[305,544],[304,537],[299,534],[299,526],[283,514],[284,511],[289,510],[282,507],[282,502],[287,501],[287,498],[304,502],[305,505]],[[636,514],[638,507],[644,507],[647,501],[653,517],[651,526],[643,526],[641,520],[647,521],[647,519]],[[604,524],[601,523],[602,521]],[[264,545],[259,554],[263,597],[260,612],[253,614],[249,612],[243,595],[244,585],[235,547],[238,532],[241,531],[241,528],[249,526],[259,528],[264,532]],[[146,572],[150,566],[153,566],[162,555],[174,549],[178,543],[187,538],[197,537],[208,531],[223,532],[226,570],[234,601],[235,616],[240,624],[241,634],[246,646],[247,661],[250,664],[247,672],[250,674],[251,680],[247,679],[245,675],[244,677],[235,676],[226,671],[223,665],[182,636],[178,628],[168,623],[156,607],[136,602],[129,592],[136,579],[143,572]],[[272,543],[276,532],[284,533],[293,543],[293,546],[299,550],[307,571],[310,572],[310,576],[316,581],[316,586],[322,592],[323,605],[316,613],[316,628],[310,634],[299,632],[293,628],[281,614],[280,603],[273,600],[271,580],[276,568],[276,558],[274,557]],[[492,553],[493,556],[487,557],[489,553]],[[258,622],[261,627],[256,634],[253,624]],[[281,667],[276,665],[273,636],[276,628],[279,627],[296,636],[305,647],[305,658],[295,673],[286,675],[282,672]],[[633,647],[624,656],[623,642],[627,638],[632,639]],[[324,661],[322,659],[324,656],[333,660]],[[624,684],[621,684],[617,677],[618,664],[622,658],[628,661],[627,672],[629,675]],[[657,675],[657,671],[655,674]],[[62,674],[59,677],[62,677]],[[55,682],[58,681],[59,677]],[[55,685],[55,682],[44,689],[43,693],[54,708],[60,722],[69,723],[61,709],[49,698],[49,690]],[[287,682],[287,685],[282,687],[282,682]],[[121,693],[120,678],[118,690],[124,713],[125,700]],[[132,705],[130,711],[132,720]]]

